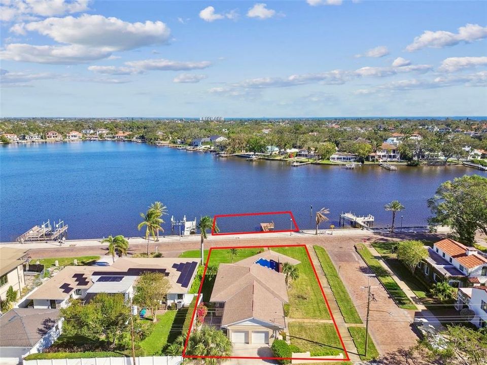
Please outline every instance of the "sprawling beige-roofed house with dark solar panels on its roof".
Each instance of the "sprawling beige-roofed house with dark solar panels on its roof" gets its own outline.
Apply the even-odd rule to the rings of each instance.
[[[128,301],[134,284],[144,272],[163,273],[171,284],[167,305],[189,305],[189,294],[198,263],[189,259],[120,258],[112,266],[66,266],[34,291],[27,300],[33,308],[65,308],[69,299],[89,301],[98,293],[123,294]]]

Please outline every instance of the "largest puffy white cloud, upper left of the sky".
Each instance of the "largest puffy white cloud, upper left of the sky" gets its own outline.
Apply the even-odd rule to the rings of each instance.
[[[59,43],[105,49],[106,51],[131,50],[143,46],[165,44],[170,30],[161,21],[130,23],[118,18],[83,14],[78,18],[47,18],[23,25]],[[11,31],[19,32],[19,27]]]

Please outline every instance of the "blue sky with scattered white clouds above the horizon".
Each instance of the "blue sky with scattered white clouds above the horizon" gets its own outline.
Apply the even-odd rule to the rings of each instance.
[[[2,117],[487,115],[487,2],[0,4]]]

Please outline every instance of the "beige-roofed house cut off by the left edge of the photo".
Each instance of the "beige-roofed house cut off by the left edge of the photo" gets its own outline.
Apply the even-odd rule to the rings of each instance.
[[[0,247],[0,299],[5,299],[10,286],[17,291],[17,298],[20,298],[25,286],[23,264],[26,255],[24,249]]]

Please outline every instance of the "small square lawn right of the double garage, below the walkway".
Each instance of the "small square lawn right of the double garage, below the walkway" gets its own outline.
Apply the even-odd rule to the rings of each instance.
[[[332,323],[289,322],[291,344],[311,356],[343,353],[340,339]]]

